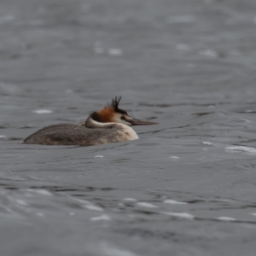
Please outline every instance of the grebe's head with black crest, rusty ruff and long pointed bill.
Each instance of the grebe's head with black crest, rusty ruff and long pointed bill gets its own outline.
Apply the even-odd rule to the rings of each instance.
[[[101,123],[121,123],[125,125],[156,125],[158,123],[133,119],[125,110],[119,108],[121,96],[115,96],[102,110],[91,113],[90,118]]]

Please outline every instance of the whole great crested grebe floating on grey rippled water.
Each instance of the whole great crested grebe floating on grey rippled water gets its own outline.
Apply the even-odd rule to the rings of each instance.
[[[133,119],[119,108],[121,97],[114,97],[102,110],[93,112],[79,123],[49,125],[26,137],[23,143],[42,145],[92,146],[136,140],[137,133],[131,125],[156,125],[158,123]]]

